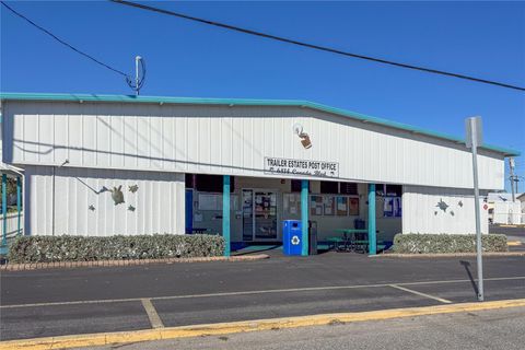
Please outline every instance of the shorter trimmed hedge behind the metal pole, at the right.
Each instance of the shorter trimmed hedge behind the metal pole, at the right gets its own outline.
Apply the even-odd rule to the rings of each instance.
[[[508,252],[504,234],[483,234],[483,252]],[[400,254],[475,253],[475,234],[398,233],[394,236],[394,252]]]

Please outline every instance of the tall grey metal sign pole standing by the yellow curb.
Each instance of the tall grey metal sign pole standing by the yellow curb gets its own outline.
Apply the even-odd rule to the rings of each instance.
[[[472,142],[472,172],[474,172],[474,206],[476,210],[476,259],[478,265],[478,301],[485,300],[483,293],[483,261],[481,246],[481,221],[479,213],[479,187],[478,187],[478,135],[476,130],[476,118],[469,118]]]

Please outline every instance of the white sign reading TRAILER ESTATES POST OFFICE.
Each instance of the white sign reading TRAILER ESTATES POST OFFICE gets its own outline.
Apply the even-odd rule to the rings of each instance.
[[[266,156],[265,174],[339,177],[339,163]]]

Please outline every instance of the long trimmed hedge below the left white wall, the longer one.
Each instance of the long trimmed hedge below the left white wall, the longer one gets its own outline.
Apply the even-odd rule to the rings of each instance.
[[[10,262],[58,262],[221,256],[219,235],[154,234],[115,236],[19,236],[9,247]]]

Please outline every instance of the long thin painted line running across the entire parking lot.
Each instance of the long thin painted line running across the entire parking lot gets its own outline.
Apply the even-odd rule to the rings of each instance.
[[[516,277],[495,277],[486,278],[485,281],[509,281],[509,280],[525,280],[525,276]],[[176,299],[196,299],[196,298],[214,298],[214,296],[234,296],[234,295],[253,295],[267,293],[293,293],[293,292],[315,292],[315,291],[330,291],[330,290],[346,290],[346,289],[364,289],[364,288],[382,288],[396,285],[429,285],[429,284],[447,284],[447,283],[471,283],[469,279],[466,280],[441,280],[441,281],[417,281],[417,282],[399,282],[399,283],[381,283],[381,284],[355,284],[355,285],[327,285],[327,287],[305,287],[305,288],[290,288],[290,289],[270,289],[259,291],[238,291],[238,292],[219,292],[206,294],[186,294],[186,295],[167,295],[167,296],[151,296],[145,298],[150,300],[176,300]],[[50,302],[50,303],[33,303],[33,304],[14,304],[0,305],[1,308],[15,307],[37,307],[37,306],[57,306],[57,305],[79,305],[79,304],[98,304],[98,303],[125,303],[125,302],[141,302],[144,298],[129,298],[129,299],[102,299],[102,300],[85,300],[71,302]]]

